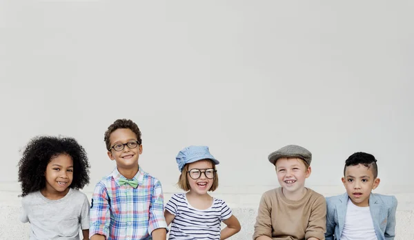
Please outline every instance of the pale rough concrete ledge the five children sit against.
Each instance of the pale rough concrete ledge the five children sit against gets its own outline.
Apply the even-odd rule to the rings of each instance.
[[[0,206],[0,239],[28,239],[30,224],[19,222],[19,206]],[[232,240],[250,240],[253,236],[257,210],[253,208],[233,208],[233,214],[242,224],[242,230]],[[414,211],[397,211],[395,240],[414,239]]]

